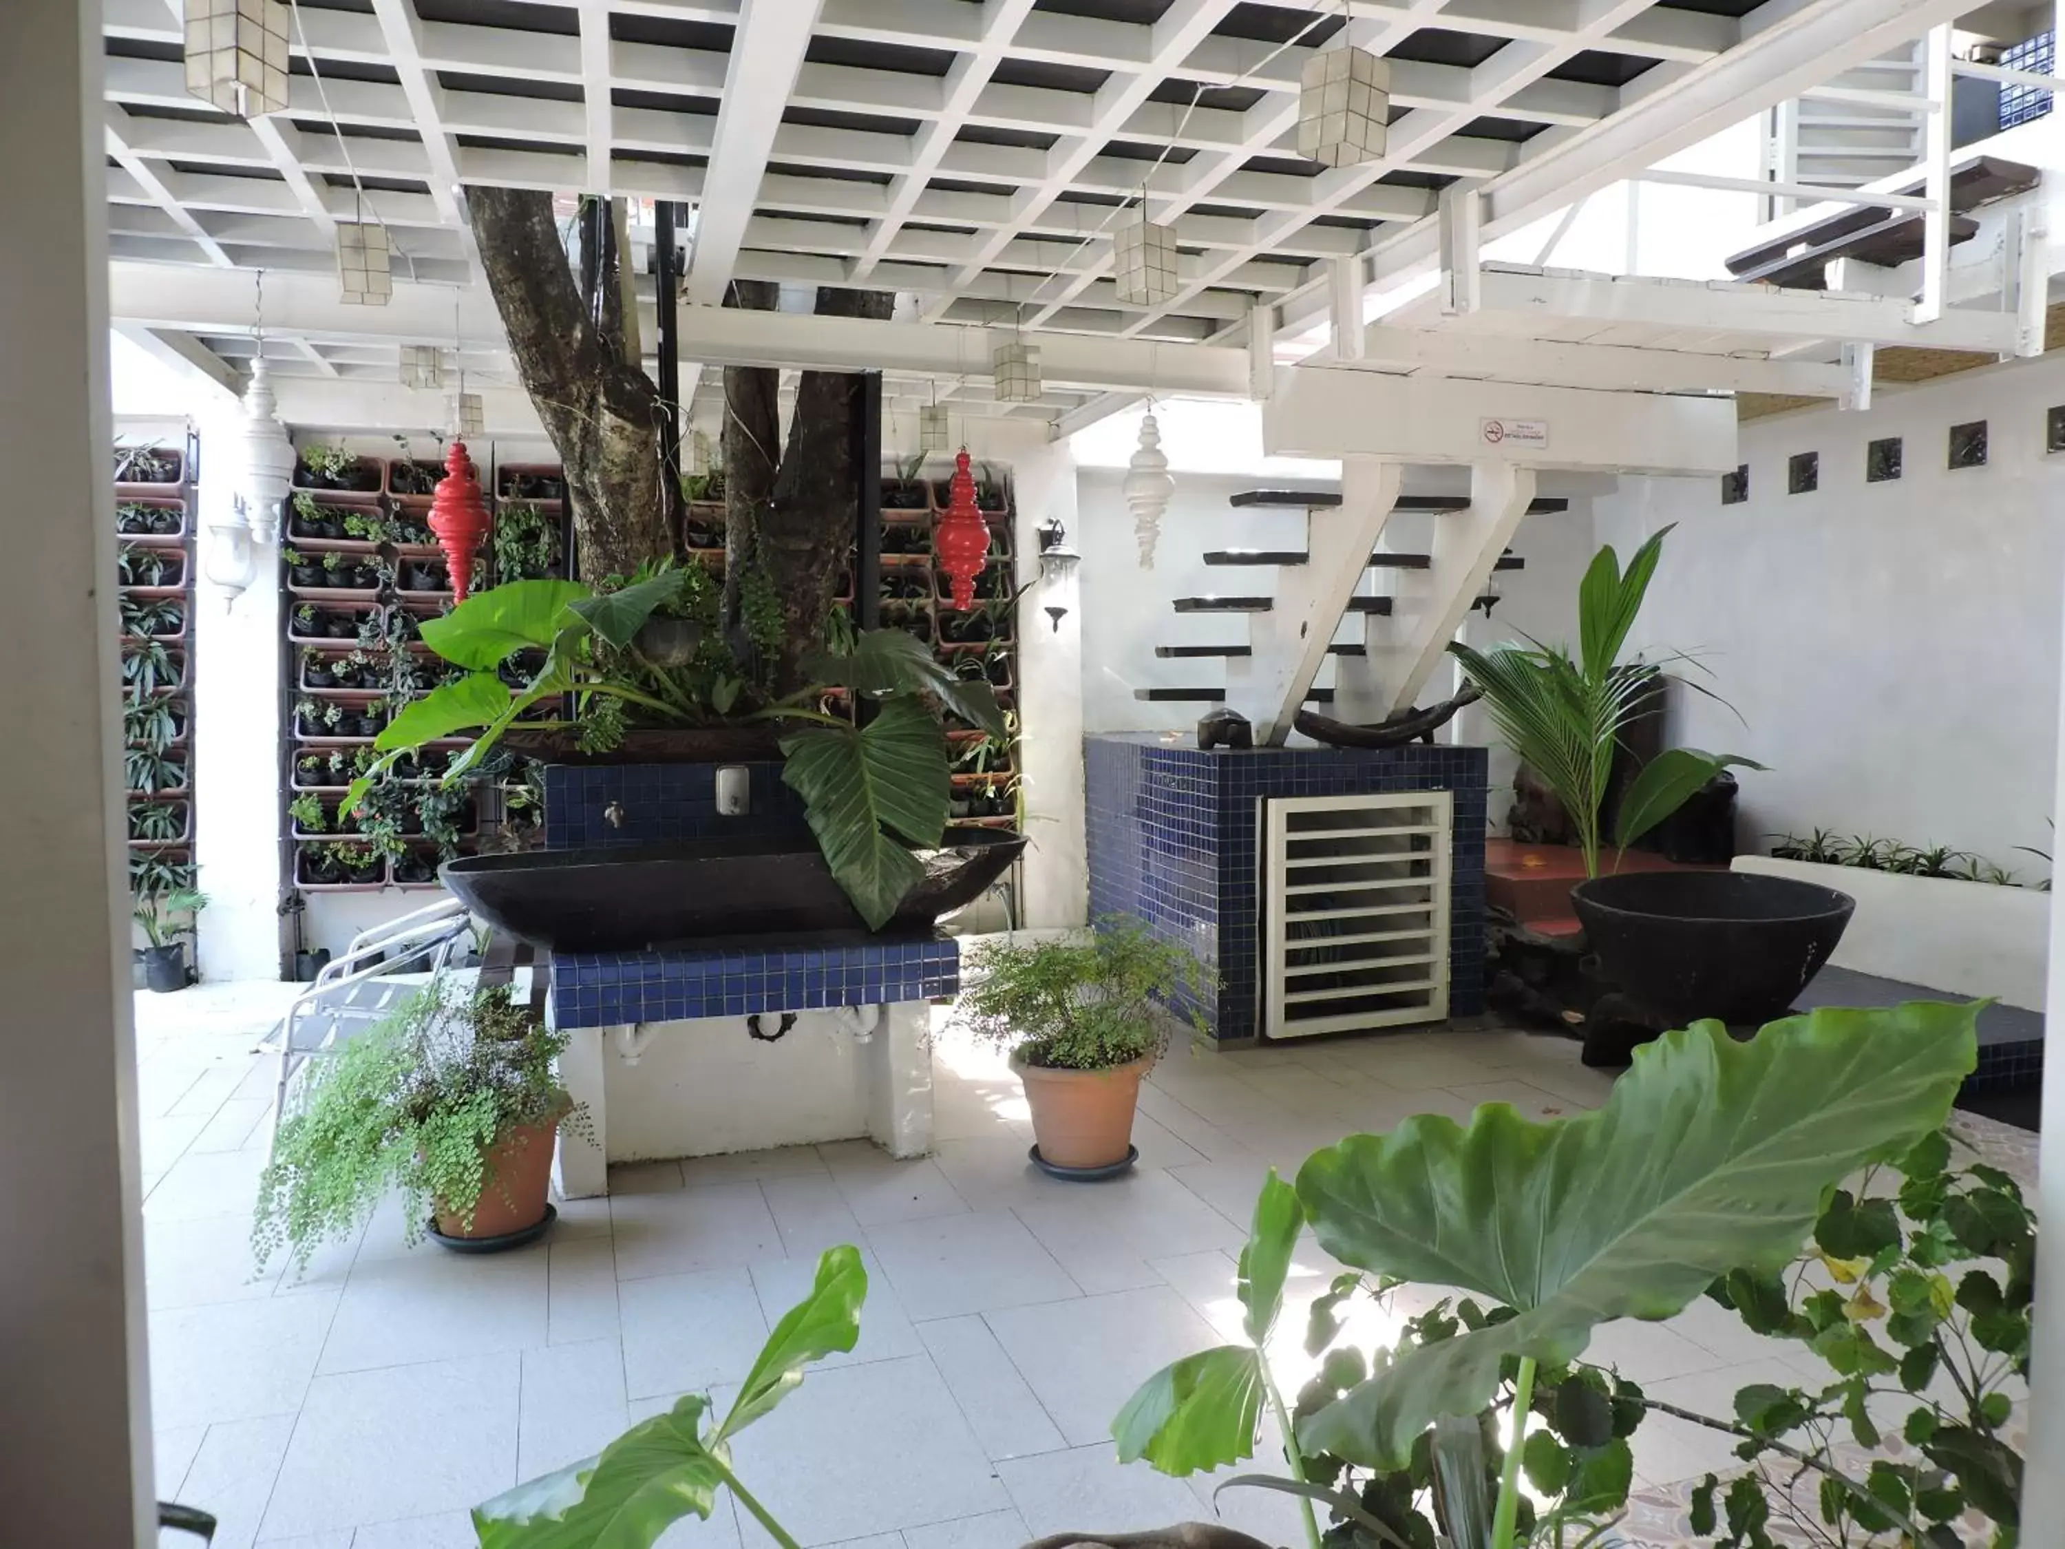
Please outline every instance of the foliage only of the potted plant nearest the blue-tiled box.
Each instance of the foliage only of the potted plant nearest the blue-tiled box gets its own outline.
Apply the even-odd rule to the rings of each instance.
[[[1105,915],[1088,940],[989,942],[968,967],[975,981],[954,1018],[1051,1070],[1113,1070],[1158,1053],[1167,1033],[1154,1002],[1196,1002],[1216,987],[1196,956],[1132,915]]]

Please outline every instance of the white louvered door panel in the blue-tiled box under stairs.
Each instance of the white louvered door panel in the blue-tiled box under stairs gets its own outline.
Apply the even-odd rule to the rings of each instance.
[[[1284,795],[1262,814],[1262,1033],[1448,1016],[1448,791]]]

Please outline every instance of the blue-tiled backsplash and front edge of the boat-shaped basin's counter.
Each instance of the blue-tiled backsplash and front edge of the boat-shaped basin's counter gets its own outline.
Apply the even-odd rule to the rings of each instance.
[[[779,762],[752,762],[748,812],[717,812],[717,764],[549,764],[545,849],[663,839],[809,834],[803,799]],[[615,803],[622,824],[603,814]],[[555,952],[553,1020],[562,1029],[882,1006],[952,995],[952,938],[853,944],[729,942],[702,952]]]

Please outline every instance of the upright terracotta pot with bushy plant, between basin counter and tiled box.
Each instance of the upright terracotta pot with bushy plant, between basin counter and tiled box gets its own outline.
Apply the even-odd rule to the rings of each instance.
[[[1130,1167],[1140,1078],[1169,1039],[1163,1006],[1208,993],[1210,969],[1130,915],[1105,915],[1088,940],[981,948],[971,969],[956,1020],[1010,1049],[1032,1161],[1057,1177]]]

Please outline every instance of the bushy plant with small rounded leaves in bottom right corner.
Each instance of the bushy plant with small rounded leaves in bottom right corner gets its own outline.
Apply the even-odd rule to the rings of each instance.
[[[1987,1543],[2013,1545],[2022,1456],[2005,1427],[2009,1384],[2030,1369],[2036,1219],[2007,1173],[1953,1167],[1958,1144],[1947,1130],[1923,1138],[1856,1192],[1836,1190],[1792,1266],[1735,1270],[1708,1289],[1753,1332],[1797,1340],[1836,1369],[1823,1386],[1755,1384],[1735,1396],[1749,1489],[1737,1479],[1720,1493],[1708,1477],[1699,1491],[1699,1532],[1720,1549],[1768,1549],[1759,1506],[1772,1499],[1817,1516],[1832,1543],[1852,1549],[1896,1549],[1916,1530],[1935,1543],[1966,1512],[1989,1520]],[[1908,1460],[1877,1458],[1863,1481],[1846,1477],[1838,1446],[1875,1448],[1881,1433],[1900,1433]],[[1803,1475],[1817,1483],[1811,1501],[1794,1499]]]

